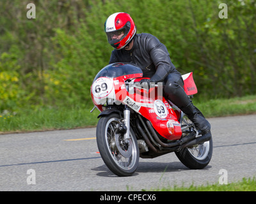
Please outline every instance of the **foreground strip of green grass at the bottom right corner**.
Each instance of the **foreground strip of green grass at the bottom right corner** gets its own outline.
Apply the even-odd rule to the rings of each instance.
[[[189,187],[174,186],[174,187],[163,187],[160,189],[152,189],[150,191],[256,191],[256,178],[244,178],[238,182],[232,182],[230,184],[209,184],[207,186],[195,186]]]

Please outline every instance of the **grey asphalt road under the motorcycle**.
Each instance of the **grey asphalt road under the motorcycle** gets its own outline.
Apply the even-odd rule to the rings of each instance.
[[[132,177],[108,170],[95,128],[0,135],[0,191],[141,191],[212,184],[224,172],[228,183],[256,176],[256,115],[209,121],[214,150],[206,168],[189,170],[170,153],[140,158]]]

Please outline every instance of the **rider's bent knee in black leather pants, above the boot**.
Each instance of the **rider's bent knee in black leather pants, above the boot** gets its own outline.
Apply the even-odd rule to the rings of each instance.
[[[184,91],[184,82],[179,72],[168,74],[164,79],[163,94],[180,109],[188,106],[190,100]]]

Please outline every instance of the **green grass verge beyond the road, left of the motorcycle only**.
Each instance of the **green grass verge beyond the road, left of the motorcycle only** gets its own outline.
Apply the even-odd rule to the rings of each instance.
[[[0,133],[92,127],[99,113],[96,109],[90,113],[88,108],[65,107],[0,113]]]

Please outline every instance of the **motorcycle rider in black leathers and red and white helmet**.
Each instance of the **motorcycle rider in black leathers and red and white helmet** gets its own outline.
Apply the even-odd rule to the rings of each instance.
[[[141,86],[150,82],[163,82],[164,96],[182,110],[194,122],[202,134],[211,129],[209,122],[198,114],[184,91],[182,77],[173,66],[167,48],[152,34],[136,34],[136,26],[127,13],[113,13],[105,22],[105,32],[112,51],[109,64],[131,62],[137,64],[143,77]]]

